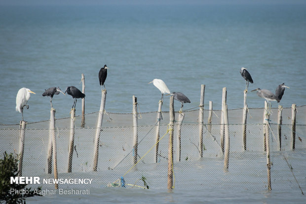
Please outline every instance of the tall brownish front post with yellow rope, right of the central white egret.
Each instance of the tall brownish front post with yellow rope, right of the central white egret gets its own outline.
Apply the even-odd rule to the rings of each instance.
[[[174,126],[174,105],[173,95],[170,96],[170,122],[169,122],[169,142],[168,142],[168,189],[173,188],[173,126]]]

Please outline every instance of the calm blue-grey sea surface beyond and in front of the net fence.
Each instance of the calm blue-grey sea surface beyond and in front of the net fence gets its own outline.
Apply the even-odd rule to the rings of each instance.
[[[213,101],[221,108],[222,88],[228,88],[229,109],[243,106],[248,68],[254,83],[272,92],[285,82],[280,102],[306,104],[305,5],[186,5],[186,6],[1,6],[0,7],[0,123],[16,124],[19,88],[32,94],[24,111],[28,122],[49,119],[49,98],[44,89],[69,85],[81,89],[85,75],[85,113],[99,110],[98,72],[110,68],[106,80],[106,111],[130,113],[132,95],[141,112],[156,111],[160,91],[148,84],[162,79],[171,91],[191,100],[185,109],[199,105],[205,84],[205,108]],[[163,110],[169,110],[164,97]],[[56,118],[69,117],[73,99],[55,95]],[[263,107],[264,99],[248,93],[249,107]],[[273,107],[277,103],[272,103]],[[180,103],[175,102],[175,109]],[[81,100],[76,115],[81,114]],[[305,122],[300,122],[300,124]],[[86,197],[30,198],[27,203],[292,203],[305,202],[300,191],[212,191],[92,189]]]

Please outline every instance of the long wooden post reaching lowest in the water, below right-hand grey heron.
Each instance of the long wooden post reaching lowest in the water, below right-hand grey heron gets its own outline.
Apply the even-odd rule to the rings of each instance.
[[[265,101],[265,110],[268,111],[268,103]],[[267,173],[268,173],[268,190],[271,190],[271,162],[270,162],[270,144],[269,144],[269,118],[270,115],[267,113],[265,115],[265,131],[266,131],[266,154],[267,154]]]

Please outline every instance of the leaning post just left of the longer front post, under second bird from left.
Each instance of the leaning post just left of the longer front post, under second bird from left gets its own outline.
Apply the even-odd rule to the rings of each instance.
[[[52,140],[53,135],[55,135],[55,109],[51,108],[50,110],[50,124],[49,124],[49,144],[48,144],[48,173],[52,173]]]

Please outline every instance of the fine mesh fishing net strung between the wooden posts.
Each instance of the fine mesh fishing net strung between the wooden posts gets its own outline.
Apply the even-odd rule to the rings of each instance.
[[[246,150],[243,147],[243,109],[229,110],[229,169],[224,170],[224,154],[221,148],[221,111],[214,110],[212,124],[208,124],[208,111],[204,110],[203,147],[199,147],[199,111],[185,112],[181,126],[181,154],[178,149],[178,122],[174,125],[173,173],[174,187],[180,189],[267,189],[267,156],[264,151],[263,108],[249,109],[246,127]],[[306,106],[297,107],[295,150],[291,150],[291,108],[282,111],[281,150],[277,135],[277,109],[270,116],[270,159],[272,189],[306,188]],[[175,113],[177,120],[179,113]],[[98,112],[74,120],[74,152],[72,168],[69,168],[71,118],[56,120],[56,151],[58,178],[91,178],[89,184],[59,184],[61,188],[116,187],[122,184],[130,188],[167,188],[169,114],[163,112],[160,121],[158,157],[155,163],[157,112],[138,114],[137,165],[134,165],[132,114],[104,113],[99,140],[97,171],[93,171],[94,139]],[[24,140],[23,176],[38,176],[40,180],[54,178],[48,173],[49,122],[27,123]],[[20,126],[0,125],[1,153],[19,153]],[[203,157],[200,157],[203,148]],[[3,157],[1,154],[0,158]],[[288,163],[287,163],[288,162]],[[53,162],[52,162],[53,165]],[[298,181],[295,180],[295,177]],[[145,183],[145,182],[146,183]],[[31,186],[31,185],[30,185]],[[32,184],[54,188],[54,184]]]

